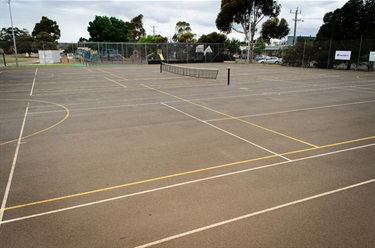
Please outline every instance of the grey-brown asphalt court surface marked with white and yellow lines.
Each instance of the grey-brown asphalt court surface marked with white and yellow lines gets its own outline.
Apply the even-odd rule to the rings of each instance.
[[[374,247],[374,73],[186,66],[0,69],[0,247]]]

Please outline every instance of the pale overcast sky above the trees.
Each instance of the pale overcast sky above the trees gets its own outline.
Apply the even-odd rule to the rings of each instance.
[[[294,32],[294,12],[302,11],[298,19],[297,35],[315,36],[323,24],[323,16],[341,8],[348,0],[278,0],[282,5],[279,18],[285,18],[289,24],[290,35]],[[221,0],[11,0],[13,25],[26,28],[31,33],[35,23],[42,16],[57,22],[61,30],[59,42],[77,42],[80,37],[89,38],[87,26],[95,15],[116,17],[130,21],[139,14],[143,15],[143,27],[146,33],[171,37],[178,21],[190,23],[194,34],[219,32],[215,25],[220,11]],[[0,29],[10,27],[8,0],[0,0]],[[260,26],[259,26],[260,29]],[[243,40],[244,36],[232,32],[229,38]]]

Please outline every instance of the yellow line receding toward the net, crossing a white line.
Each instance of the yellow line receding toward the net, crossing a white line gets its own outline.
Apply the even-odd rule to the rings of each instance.
[[[308,142],[306,142],[306,141],[303,141],[303,140],[300,140],[300,139],[297,139],[297,138],[291,137],[291,136],[289,136],[289,135],[286,135],[286,134],[283,134],[283,133],[277,132],[277,131],[275,131],[275,130],[272,130],[272,129],[269,129],[269,128],[266,128],[266,127],[259,126],[259,125],[255,124],[255,123],[252,123],[252,122],[249,122],[249,121],[245,121],[245,120],[243,120],[243,119],[241,119],[241,118],[238,118],[238,117],[235,117],[235,116],[228,115],[228,114],[223,113],[223,112],[220,112],[220,111],[218,111],[218,110],[215,110],[215,109],[212,109],[212,108],[206,107],[206,106],[204,106],[204,105],[201,105],[201,104],[199,104],[199,103],[195,103],[195,102],[189,101],[189,100],[187,100],[187,99],[184,99],[184,98],[182,98],[182,97],[179,97],[179,96],[176,96],[176,95],[170,94],[170,93],[168,93],[168,92],[165,92],[165,91],[162,91],[162,90],[159,90],[159,89],[153,88],[153,87],[148,86],[148,85],[144,85],[144,84],[141,84],[141,85],[144,86],[144,87],[146,87],[146,88],[148,88],[148,89],[151,89],[151,90],[157,91],[157,92],[159,92],[159,93],[162,93],[162,94],[164,94],[164,95],[167,95],[167,96],[170,96],[170,97],[173,97],[173,98],[179,99],[179,100],[181,100],[181,101],[184,101],[184,102],[187,102],[187,103],[193,104],[193,105],[195,105],[195,106],[198,106],[198,107],[204,108],[204,109],[209,110],[209,111],[211,111],[211,112],[214,112],[214,113],[217,113],[217,114],[220,114],[220,115],[226,116],[226,117],[228,117],[228,118],[230,118],[230,119],[234,119],[234,120],[237,120],[237,121],[240,121],[240,122],[243,122],[243,123],[246,123],[246,124],[252,125],[252,126],[254,126],[254,127],[257,127],[257,128],[263,129],[263,130],[266,130],[266,131],[268,131],[268,132],[271,132],[271,133],[274,133],[274,134],[277,134],[277,135],[283,136],[283,137],[285,137],[285,138],[288,138],[288,139],[291,139],[291,140],[294,140],[294,141],[297,141],[297,142],[303,143],[303,144],[308,145],[308,146],[311,146],[311,147],[319,148],[319,146],[317,146],[317,145],[314,145],[314,144],[308,143]]]

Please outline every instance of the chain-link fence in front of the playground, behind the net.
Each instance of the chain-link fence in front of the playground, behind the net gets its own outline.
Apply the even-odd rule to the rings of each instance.
[[[76,62],[103,63],[209,63],[224,61],[224,43],[113,43],[80,42]]]

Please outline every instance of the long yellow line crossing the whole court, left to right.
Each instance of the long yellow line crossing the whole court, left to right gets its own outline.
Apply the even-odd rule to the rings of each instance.
[[[277,154],[277,155],[275,154],[275,155],[269,155],[269,156],[258,157],[258,158],[253,158],[253,159],[247,159],[247,160],[242,160],[242,161],[237,161],[237,162],[232,162],[232,163],[227,163],[227,164],[221,164],[221,165],[201,168],[201,169],[197,169],[197,170],[185,171],[185,172],[181,172],[181,173],[170,174],[170,175],[166,175],[166,176],[155,177],[155,178],[145,179],[145,180],[141,180],[141,181],[115,185],[115,186],[112,186],[112,187],[101,188],[101,189],[81,192],[81,193],[77,193],[77,194],[65,195],[65,196],[61,196],[61,197],[25,203],[25,204],[21,204],[21,205],[7,207],[7,208],[4,209],[4,211],[23,208],[23,207],[29,207],[29,206],[35,206],[35,205],[39,205],[39,204],[43,204],[43,203],[55,202],[55,201],[60,201],[60,200],[90,195],[90,194],[94,194],[94,193],[100,193],[100,192],[105,192],[105,191],[109,191],[109,190],[120,189],[120,188],[130,187],[130,186],[134,186],[134,185],[149,183],[149,182],[161,181],[161,180],[168,179],[168,178],[175,178],[175,177],[195,174],[195,173],[199,173],[199,172],[210,171],[210,170],[215,170],[215,169],[219,169],[219,168],[230,167],[230,166],[234,166],[234,165],[250,163],[250,162],[255,162],[255,161],[261,161],[261,160],[266,160],[266,159],[270,159],[270,158],[276,158],[276,157],[279,157],[279,156],[286,156],[286,155],[291,155],[291,154],[303,153],[303,152],[308,152],[308,151],[313,151],[313,150],[318,150],[318,149],[323,149],[323,148],[328,148],[328,147],[333,147],[333,146],[345,145],[345,144],[349,144],[349,143],[365,141],[365,140],[370,140],[370,139],[375,139],[375,136],[356,139],[356,140],[350,140],[350,141],[344,141],[344,142],[335,143],[335,144],[328,144],[328,145],[320,146],[320,147],[311,147],[311,148],[307,148],[307,149],[303,149],[303,150],[290,151],[290,152],[285,152],[283,154]]]

